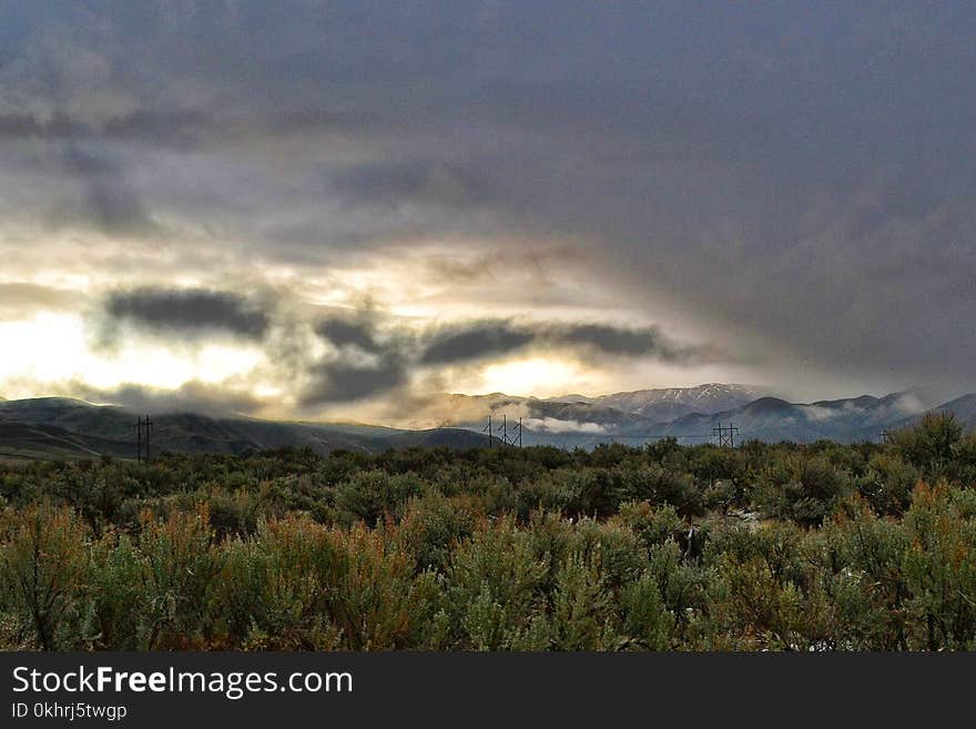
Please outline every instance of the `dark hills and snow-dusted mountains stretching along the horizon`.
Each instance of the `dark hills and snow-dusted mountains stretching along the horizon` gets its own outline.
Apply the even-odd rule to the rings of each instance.
[[[739,442],[876,441],[883,431],[911,425],[929,411],[953,412],[964,425],[976,427],[976,394],[943,404],[927,402],[917,391],[791,403],[761,387],[716,383],[548,399],[454,394],[437,396],[428,407],[456,417],[438,428],[406,429],[230,414],[159,414],[153,416],[152,447],[155,453],[242,453],[283,446],[308,446],[319,453],[337,448],[375,453],[409,445],[475,447],[488,445],[489,414],[496,438],[507,434],[514,439],[521,419],[525,445],[560,447],[610,441],[639,445],[667,436],[701,443],[712,438],[712,428],[730,424],[739,428]],[[0,398],[0,458],[134,457],[134,418],[122,407],[63,397]]]

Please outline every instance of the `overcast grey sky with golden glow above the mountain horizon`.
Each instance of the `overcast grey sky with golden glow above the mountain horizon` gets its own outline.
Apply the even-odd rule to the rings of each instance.
[[[976,391],[972,2],[0,0],[0,395]]]

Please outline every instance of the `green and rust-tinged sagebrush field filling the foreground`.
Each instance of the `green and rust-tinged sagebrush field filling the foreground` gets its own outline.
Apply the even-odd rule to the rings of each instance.
[[[0,647],[976,648],[976,436],[0,467]]]

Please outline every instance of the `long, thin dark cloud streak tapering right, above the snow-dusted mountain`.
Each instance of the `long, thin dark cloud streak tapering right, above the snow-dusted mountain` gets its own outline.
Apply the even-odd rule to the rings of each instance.
[[[603,356],[651,357],[663,362],[702,361],[706,350],[670,342],[655,327],[608,324],[480,321],[441,327],[428,335],[419,363],[453,364],[498,357],[529,346],[589,350]]]

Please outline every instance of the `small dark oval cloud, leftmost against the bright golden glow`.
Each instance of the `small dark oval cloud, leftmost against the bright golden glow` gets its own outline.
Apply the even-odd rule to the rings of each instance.
[[[109,295],[105,314],[157,333],[227,332],[260,340],[271,317],[254,302],[234,293],[204,288],[142,287]]]

